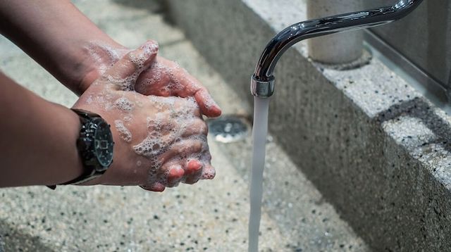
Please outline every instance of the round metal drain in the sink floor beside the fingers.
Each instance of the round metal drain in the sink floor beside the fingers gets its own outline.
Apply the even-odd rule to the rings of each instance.
[[[210,134],[221,143],[239,141],[249,134],[249,123],[240,116],[223,115],[221,118],[211,119],[207,123]]]

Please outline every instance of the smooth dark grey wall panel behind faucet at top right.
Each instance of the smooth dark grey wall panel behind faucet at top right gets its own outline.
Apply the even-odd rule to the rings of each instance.
[[[366,8],[394,2],[364,1]],[[451,1],[426,0],[404,20],[373,31],[435,80],[451,88]]]

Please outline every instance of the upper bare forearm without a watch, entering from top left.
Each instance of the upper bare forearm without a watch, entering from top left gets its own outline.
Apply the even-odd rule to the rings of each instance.
[[[93,42],[123,48],[68,0],[0,1],[0,32],[76,94],[96,71]]]

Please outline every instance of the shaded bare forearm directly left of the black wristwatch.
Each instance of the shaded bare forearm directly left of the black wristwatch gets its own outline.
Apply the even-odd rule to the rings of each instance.
[[[78,115],[0,73],[0,187],[60,184],[82,174]]]

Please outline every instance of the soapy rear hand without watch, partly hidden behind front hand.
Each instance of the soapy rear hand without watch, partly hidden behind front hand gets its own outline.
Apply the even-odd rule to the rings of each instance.
[[[83,92],[113,63],[130,52],[123,46],[97,43],[90,44],[87,51],[95,61],[92,61],[92,69],[81,81],[80,88]],[[208,117],[221,115],[221,108],[199,80],[177,63],[160,56],[155,57],[149,68],[144,69],[137,78],[134,88],[145,95],[193,97],[199,104],[202,114]]]

